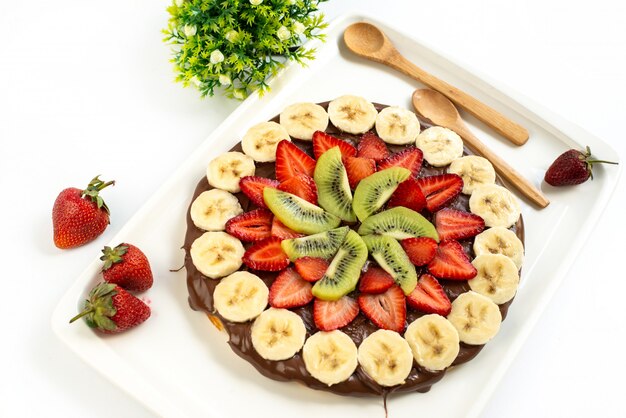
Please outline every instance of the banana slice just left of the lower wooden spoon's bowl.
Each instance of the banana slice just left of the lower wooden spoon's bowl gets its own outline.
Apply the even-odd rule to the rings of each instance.
[[[376,133],[388,144],[410,144],[420,133],[420,123],[408,109],[386,107],[376,116]]]

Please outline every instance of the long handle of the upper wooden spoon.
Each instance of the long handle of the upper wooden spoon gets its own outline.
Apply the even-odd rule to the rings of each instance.
[[[417,65],[404,58],[398,51],[395,52],[395,54],[386,57],[382,62],[426,84],[431,89],[439,91],[512,143],[524,145],[526,141],[528,141],[528,131],[523,126],[513,122],[497,110],[476,100],[469,94],[422,70]]]

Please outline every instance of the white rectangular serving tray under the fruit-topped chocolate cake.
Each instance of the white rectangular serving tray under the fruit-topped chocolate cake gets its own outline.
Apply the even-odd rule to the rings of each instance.
[[[54,311],[52,328],[59,338],[88,365],[156,414],[219,418],[383,416],[381,399],[341,397],[260,375],[230,350],[226,336],[204,314],[189,308],[185,271],[169,271],[183,263],[180,247],[185,214],[207,163],[238,142],[250,125],[271,118],[293,102],[321,102],[347,93],[410,108],[413,90],[422,86],[382,65],[355,57],[343,46],[344,28],[361,20],[381,27],[407,58],[425,70],[525,126],[530,140],[518,148],[463,114],[489,147],[552,201],[544,210],[522,201],[526,261],[518,295],[500,333],[477,358],[451,370],[430,392],[392,396],[389,416],[478,416],[611,197],[622,165],[610,170],[598,166],[594,181],[573,188],[556,189],[542,182],[555,156],[570,147],[590,145],[597,155],[618,161],[618,154],[606,143],[382,22],[359,15],[337,19],[328,28],[327,43],[319,46],[317,59],[308,68],[290,65],[272,82],[270,94],[263,98],[253,95],[242,103],[111,241],[110,245],[134,243],[151,260],[155,284],[142,296],[152,308],[148,322],[131,332],[104,338],[81,324],[68,324],[88,289],[100,280],[101,262],[97,258]]]

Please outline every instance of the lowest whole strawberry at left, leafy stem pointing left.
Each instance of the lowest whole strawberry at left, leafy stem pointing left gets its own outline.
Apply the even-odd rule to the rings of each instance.
[[[148,319],[150,308],[118,285],[100,283],[89,292],[82,312],[70,323],[82,317],[89,327],[105,334],[115,334]]]

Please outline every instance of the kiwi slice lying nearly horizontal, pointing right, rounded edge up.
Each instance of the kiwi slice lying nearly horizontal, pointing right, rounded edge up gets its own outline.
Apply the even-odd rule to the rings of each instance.
[[[395,239],[430,237],[439,241],[439,234],[428,219],[402,206],[370,216],[361,224],[359,234],[380,234]]]

